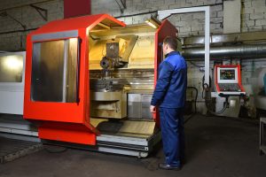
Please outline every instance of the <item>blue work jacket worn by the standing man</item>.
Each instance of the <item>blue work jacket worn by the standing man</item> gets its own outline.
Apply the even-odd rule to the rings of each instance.
[[[172,51],[159,65],[159,78],[151,104],[164,108],[184,107],[186,86],[186,62],[179,52]]]

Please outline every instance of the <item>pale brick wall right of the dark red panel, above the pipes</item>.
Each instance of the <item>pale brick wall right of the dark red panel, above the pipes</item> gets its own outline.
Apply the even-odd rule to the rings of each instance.
[[[241,32],[265,30],[266,2],[265,0],[241,0]],[[106,4],[108,7],[106,8]],[[154,12],[158,10],[192,7],[200,5],[211,6],[210,32],[223,33],[223,1],[222,0],[127,0],[127,9],[120,12],[119,5],[114,0],[92,1],[92,13],[109,13],[114,17],[127,16],[136,13]],[[126,24],[144,23],[145,19],[155,13],[133,17],[121,17]],[[176,14],[168,18],[176,25],[179,36],[203,35],[204,13]]]

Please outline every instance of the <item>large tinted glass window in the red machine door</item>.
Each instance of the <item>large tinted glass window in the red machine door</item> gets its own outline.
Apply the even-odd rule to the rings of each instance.
[[[78,39],[35,42],[33,45],[31,99],[74,103]]]

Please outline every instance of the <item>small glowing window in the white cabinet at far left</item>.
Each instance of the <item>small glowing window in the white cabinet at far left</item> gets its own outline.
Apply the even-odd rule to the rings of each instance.
[[[0,82],[22,82],[23,56],[0,56]]]

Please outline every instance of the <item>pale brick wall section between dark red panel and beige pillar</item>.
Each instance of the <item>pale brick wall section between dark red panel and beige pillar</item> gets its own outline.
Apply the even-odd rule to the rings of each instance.
[[[105,8],[107,2],[110,2]],[[92,13],[110,13],[113,16],[127,16],[136,13],[154,12],[158,10],[176,9],[200,5],[211,5],[211,33],[223,33],[223,1],[221,0],[128,0],[127,9],[121,14],[118,4],[114,0],[92,1]],[[119,18],[126,24],[144,23],[155,13]],[[176,14],[168,18],[179,31],[179,36],[203,35],[204,12]]]

